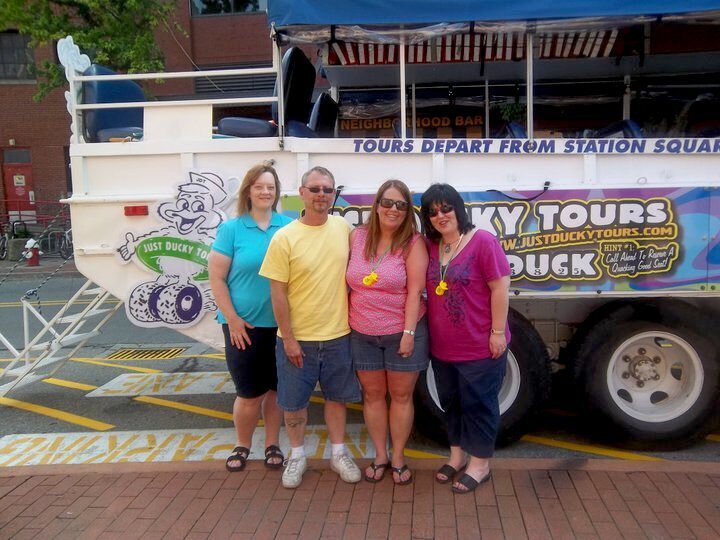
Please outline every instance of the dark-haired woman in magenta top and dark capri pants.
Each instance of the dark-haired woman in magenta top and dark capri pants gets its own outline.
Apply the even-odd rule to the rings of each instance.
[[[450,459],[435,479],[452,482],[465,468],[452,489],[469,493],[490,478],[500,427],[510,265],[498,240],[474,229],[455,188],[433,184],[421,203],[430,258],[430,358],[450,442]]]

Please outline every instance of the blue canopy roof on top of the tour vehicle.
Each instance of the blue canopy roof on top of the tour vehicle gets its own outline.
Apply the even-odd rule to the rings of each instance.
[[[398,25],[677,15],[718,0],[268,0],[268,20],[291,25]]]

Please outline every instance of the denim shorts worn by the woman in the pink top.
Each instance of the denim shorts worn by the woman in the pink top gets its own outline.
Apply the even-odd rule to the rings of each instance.
[[[423,317],[415,328],[415,349],[409,358],[403,358],[397,353],[403,332],[368,336],[353,330],[350,334],[353,365],[358,371],[422,371],[430,361],[427,336],[427,321]]]

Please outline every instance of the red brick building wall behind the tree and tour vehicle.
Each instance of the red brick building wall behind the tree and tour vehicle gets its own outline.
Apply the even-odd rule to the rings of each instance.
[[[191,12],[192,2],[203,4],[196,0],[177,0],[175,18],[186,35],[174,29],[158,32],[167,71],[191,71],[193,65],[214,68],[271,62],[271,42],[264,12],[198,15]],[[259,2],[259,5],[264,8],[265,2]],[[51,46],[35,49],[33,56],[37,64],[57,58]],[[7,54],[0,58],[7,58]],[[6,201],[17,198],[15,192],[33,191],[38,214],[42,214],[41,202],[56,203],[71,190],[66,89],[56,89],[38,103],[33,100],[37,92],[35,80],[4,78],[0,71],[0,201],[3,201],[0,203],[0,221],[7,219],[8,204],[13,203]],[[173,95],[187,96],[196,93],[196,88],[191,80],[170,80],[153,86],[152,93],[162,99]],[[29,160],[21,166],[22,175],[17,174],[18,167],[13,164],[18,156],[19,161]],[[24,186],[18,186],[18,180],[14,184],[13,178],[20,176],[24,177]]]

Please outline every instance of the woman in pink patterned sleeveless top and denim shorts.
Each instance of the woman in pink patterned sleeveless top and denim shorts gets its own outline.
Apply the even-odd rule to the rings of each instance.
[[[413,423],[413,389],[428,365],[422,298],[426,269],[427,251],[415,226],[410,190],[399,180],[388,180],[375,195],[367,223],[350,235],[347,269],[353,364],[375,444],[375,460],[365,470],[368,482],[382,480],[388,468],[396,484],[412,482],[404,451]]]

